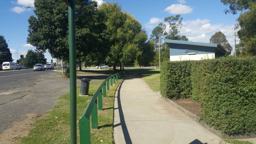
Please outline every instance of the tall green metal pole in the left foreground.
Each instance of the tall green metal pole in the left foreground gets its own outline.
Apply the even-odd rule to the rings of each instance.
[[[68,40],[70,72],[70,140],[76,144],[76,35],[75,0],[65,0],[68,4]]]

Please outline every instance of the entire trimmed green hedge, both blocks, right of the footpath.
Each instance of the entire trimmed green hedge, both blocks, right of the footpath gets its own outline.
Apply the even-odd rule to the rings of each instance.
[[[162,64],[160,90],[165,97],[199,102],[199,116],[223,133],[256,133],[255,57]]]

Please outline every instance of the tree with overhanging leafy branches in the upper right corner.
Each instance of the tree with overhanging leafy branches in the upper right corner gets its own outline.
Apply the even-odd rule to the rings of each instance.
[[[221,0],[225,5],[229,5],[229,10],[225,13],[237,14],[241,11],[237,19],[235,29],[239,29],[237,34],[240,38],[242,50],[241,55],[256,56],[256,1],[255,0]],[[246,51],[246,52],[245,52]]]

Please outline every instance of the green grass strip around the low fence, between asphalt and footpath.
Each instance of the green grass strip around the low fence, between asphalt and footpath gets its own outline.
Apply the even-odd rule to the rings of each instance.
[[[114,93],[122,79],[110,87],[107,91],[107,97],[103,98],[103,110],[98,110],[98,129],[91,130],[91,143],[113,143],[113,103]],[[94,94],[103,82],[90,83],[89,94]],[[80,87],[76,90],[80,93]],[[85,107],[91,97],[77,97],[77,124]],[[51,143],[51,144],[69,144],[70,143],[70,95],[61,96],[56,102],[54,109],[48,111],[32,125],[29,135],[18,138],[21,143]],[[77,139],[79,140],[79,127],[77,125]]]

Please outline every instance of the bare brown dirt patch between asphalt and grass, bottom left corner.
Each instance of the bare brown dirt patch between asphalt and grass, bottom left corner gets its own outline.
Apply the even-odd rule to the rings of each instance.
[[[29,130],[33,128],[31,124],[41,116],[41,114],[27,114],[28,118],[25,120],[14,122],[10,129],[0,134],[0,144],[17,144],[16,138],[28,136]]]

